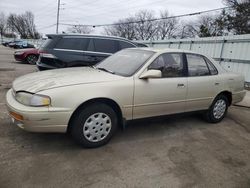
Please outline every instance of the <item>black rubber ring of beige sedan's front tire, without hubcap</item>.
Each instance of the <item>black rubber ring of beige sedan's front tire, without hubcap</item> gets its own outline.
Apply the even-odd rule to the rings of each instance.
[[[111,130],[106,138],[99,142],[91,142],[87,140],[83,134],[83,125],[85,121],[93,114],[102,112],[108,115],[111,119]],[[113,136],[114,132],[117,129],[117,115],[115,111],[108,105],[102,104],[102,103],[95,103],[92,105],[89,105],[85,108],[81,108],[76,112],[75,117],[72,121],[72,127],[71,127],[71,135],[75,139],[76,142],[81,144],[84,147],[87,148],[95,148],[102,145],[105,145],[109,142],[111,137]]]

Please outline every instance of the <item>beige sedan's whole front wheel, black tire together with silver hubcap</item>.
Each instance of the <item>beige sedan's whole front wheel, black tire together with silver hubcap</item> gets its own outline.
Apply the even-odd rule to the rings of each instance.
[[[76,112],[71,124],[71,135],[83,147],[95,148],[109,142],[117,124],[117,115],[110,106],[95,103]]]

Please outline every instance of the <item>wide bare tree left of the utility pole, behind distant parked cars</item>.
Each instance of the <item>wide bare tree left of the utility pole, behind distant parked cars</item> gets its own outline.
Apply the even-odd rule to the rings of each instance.
[[[36,31],[34,24],[34,15],[32,12],[25,12],[24,14],[10,14],[7,19],[8,27],[12,32],[21,35],[21,38],[39,38],[40,35]]]

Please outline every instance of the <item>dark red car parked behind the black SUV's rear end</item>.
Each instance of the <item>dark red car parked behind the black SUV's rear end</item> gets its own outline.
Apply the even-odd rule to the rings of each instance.
[[[16,50],[14,52],[14,58],[17,61],[23,61],[35,65],[39,58],[39,52],[36,48]]]

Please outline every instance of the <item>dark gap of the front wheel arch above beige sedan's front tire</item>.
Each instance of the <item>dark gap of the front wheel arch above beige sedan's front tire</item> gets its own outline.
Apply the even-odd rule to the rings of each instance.
[[[80,110],[83,110],[84,108],[86,108],[87,106],[91,105],[91,104],[95,104],[95,103],[103,103],[103,104],[106,104],[108,106],[110,106],[117,114],[117,118],[118,118],[118,124],[119,125],[123,125],[123,115],[122,115],[122,111],[121,111],[121,108],[120,106],[118,105],[117,102],[115,102],[114,100],[112,99],[109,99],[109,98],[103,98],[103,97],[100,97],[100,98],[93,98],[93,99],[89,99],[85,102],[83,102],[82,104],[80,104],[75,110],[74,112],[72,113],[70,119],[69,119],[69,122],[68,122],[68,127],[67,127],[67,132],[70,132],[71,131],[71,128],[72,128],[72,120],[74,119],[74,117],[77,115],[77,113],[80,111]]]

